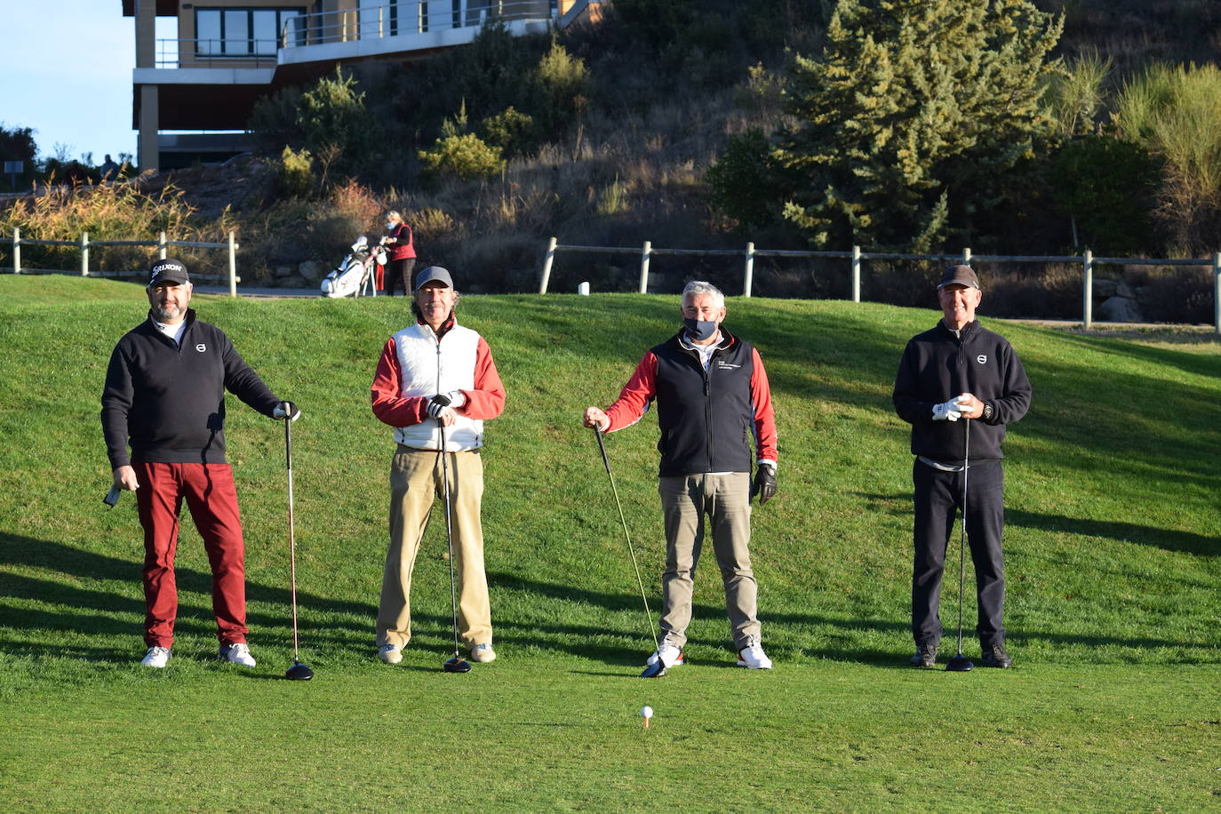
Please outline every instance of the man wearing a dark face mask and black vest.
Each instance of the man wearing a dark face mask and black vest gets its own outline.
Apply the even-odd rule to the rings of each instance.
[[[585,410],[585,426],[614,432],[631,426],[657,400],[662,463],[657,491],[665,520],[662,575],[663,638],[648,664],[684,664],[691,622],[695,569],[703,547],[705,516],[725,587],[725,610],[737,666],[767,670],[757,616],[758,586],[747,546],[751,498],[775,494],[777,439],[763,360],[722,327],[725,295],[706,282],[683,289],[684,327],[645,354],[636,372],[603,412]],[[757,465],[753,487],[751,463]]]

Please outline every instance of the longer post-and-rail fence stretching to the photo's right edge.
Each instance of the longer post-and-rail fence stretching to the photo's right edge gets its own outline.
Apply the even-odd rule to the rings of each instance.
[[[641,294],[648,293],[648,268],[650,260],[654,255],[695,255],[695,256],[739,256],[745,261],[742,268],[742,297],[751,295],[755,281],[755,258],[839,258],[851,261],[851,286],[852,301],[861,301],[861,264],[866,260],[937,260],[941,262],[969,264],[978,262],[1071,262],[1082,266],[1082,326],[1087,330],[1094,323],[1094,266],[1099,264],[1116,264],[1125,266],[1205,266],[1212,268],[1212,325],[1216,334],[1221,336],[1221,251],[1211,258],[1200,260],[1151,259],[1151,258],[1095,258],[1093,251],[1085,250],[1081,255],[1059,256],[1034,256],[1034,255],[995,255],[972,254],[969,248],[965,248],[961,254],[895,254],[889,251],[861,251],[861,247],[852,247],[851,251],[801,251],[795,249],[756,249],[753,243],[747,243],[746,249],[658,249],[652,242],[645,240],[640,249],[635,247],[589,247],[589,245],[560,245],[557,238],[551,238],[547,243],[547,251],[543,255],[542,273],[538,278],[538,293],[546,294],[551,282],[551,271],[556,261],[557,251],[586,251],[595,254],[639,254],[640,255],[640,287]]]

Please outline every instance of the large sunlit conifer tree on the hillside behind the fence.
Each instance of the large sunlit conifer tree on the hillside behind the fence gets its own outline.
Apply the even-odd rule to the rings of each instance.
[[[1046,132],[1042,77],[1062,18],[1026,0],[840,0],[795,56],[775,157],[785,217],[816,245],[924,251],[1004,203]]]

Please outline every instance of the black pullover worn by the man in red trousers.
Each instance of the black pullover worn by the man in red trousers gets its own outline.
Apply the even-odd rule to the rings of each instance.
[[[223,464],[226,389],[266,416],[280,404],[225,332],[197,321],[193,309],[181,347],[158,331],[150,312],[118,340],[106,369],[101,432],[111,467],[132,460]]]

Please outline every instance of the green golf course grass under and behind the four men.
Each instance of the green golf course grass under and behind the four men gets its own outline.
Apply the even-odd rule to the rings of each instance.
[[[189,522],[175,660],[160,672],[136,665],[139,528],[131,495],[101,504],[98,398],[143,293],[0,277],[0,799],[15,810],[1221,804],[1221,345],[1210,338],[1000,326],[1034,386],[1006,442],[1017,666],[951,675],[900,666],[911,650],[911,456],[889,399],[904,342],[937,314],[731,300],[729,325],[761,348],[778,411],[780,494],[756,510],[751,546],[775,669],[731,669],[708,563],[691,665],[646,682],[647,626],[579,416],[614,399],[674,330],[676,303],[469,298],[462,319],[488,338],[508,389],[485,458],[501,659],[452,676],[440,671],[440,524],[420,554],[404,663],[374,658],[393,444],[368,392],[404,301],[194,304],[305,412],[293,430],[298,577],[303,657],[317,679],[275,680],[291,660],[283,433],[238,403],[226,434],[259,666],[209,658],[210,578]],[[652,416],[607,441],[654,611],[656,441]],[[949,627],[950,586],[943,610]],[[657,710],[647,731],[646,703]]]

